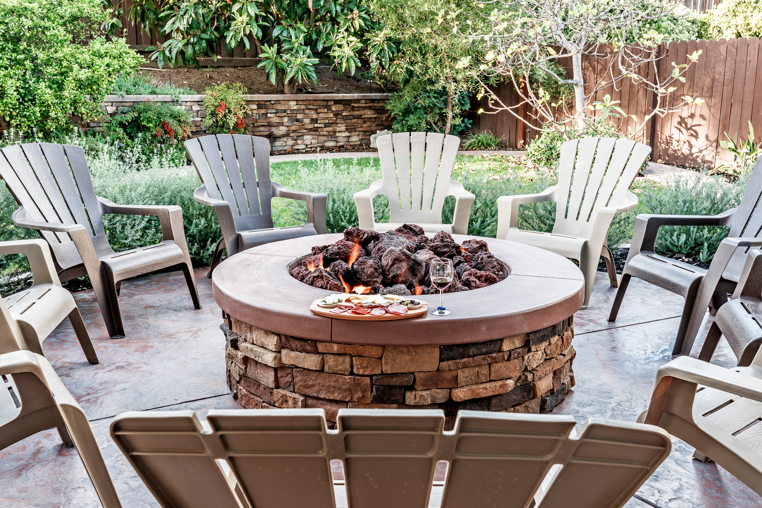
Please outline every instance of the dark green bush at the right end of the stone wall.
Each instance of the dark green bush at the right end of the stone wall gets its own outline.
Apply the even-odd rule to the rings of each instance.
[[[469,93],[458,94],[452,104],[453,118],[450,134],[471,128],[466,118],[469,110]],[[409,81],[402,90],[391,94],[386,109],[394,117],[395,132],[444,132],[447,125],[447,90],[434,87],[431,81]]]

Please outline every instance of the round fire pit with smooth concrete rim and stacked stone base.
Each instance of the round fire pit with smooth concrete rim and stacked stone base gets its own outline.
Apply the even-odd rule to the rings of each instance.
[[[478,238],[510,269],[488,287],[445,294],[450,316],[362,322],[315,316],[331,294],[290,275],[341,233],[240,252],[213,272],[226,322],[227,378],[246,408],[441,408],[549,412],[574,386],[572,315],[584,278],[568,259]],[[457,243],[473,237],[453,235]],[[438,295],[418,297],[437,303]]]

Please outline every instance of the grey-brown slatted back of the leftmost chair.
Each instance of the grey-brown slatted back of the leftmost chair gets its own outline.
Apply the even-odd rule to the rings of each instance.
[[[98,256],[114,254],[82,147],[25,143],[2,148],[2,155],[0,177],[31,221],[81,224],[90,233]],[[82,263],[68,233],[39,232],[50,244],[57,268]]]

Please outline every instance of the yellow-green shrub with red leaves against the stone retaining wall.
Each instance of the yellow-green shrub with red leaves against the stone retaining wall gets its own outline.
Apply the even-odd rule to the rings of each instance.
[[[216,84],[204,90],[207,116],[201,125],[209,127],[210,134],[243,134],[250,111],[243,98],[246,91],[240,83]]]

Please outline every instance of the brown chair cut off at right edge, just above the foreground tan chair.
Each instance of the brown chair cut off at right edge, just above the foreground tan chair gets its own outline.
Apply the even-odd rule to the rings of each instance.
[[[738,358],[738,367],[751,365],[762,344],[762,252],[759,250],[749,252],[733,297],[717,311],[699,360],[712,360],[722,335]]]

